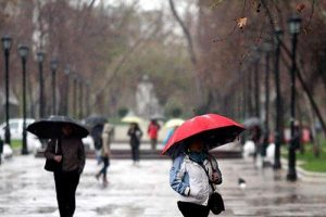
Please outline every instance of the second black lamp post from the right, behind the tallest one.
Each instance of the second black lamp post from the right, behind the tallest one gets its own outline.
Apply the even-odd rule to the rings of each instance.
[[[281,142],[281,97],[280,97],[280,85],[279,85],[279,53],[280,53],[280,41],[283,37],[283,30],[276,28],[274,31],[275,39],[275,62],[274,62],[274,78],[276,89],[276,125],[275,125],[275,154],[274,154],[274,169],[280,169],[280,142]]]

